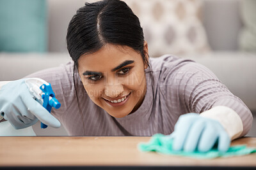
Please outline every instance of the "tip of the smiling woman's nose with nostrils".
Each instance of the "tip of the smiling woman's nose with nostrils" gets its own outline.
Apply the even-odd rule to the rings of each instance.
[[[108,97],[111,98],[116,98],[118,96],[120,96],[120,94],[122,94],[122,92],[124,92],[124,87],[121,84],[110,84],[110,85],[106,85],[105,86],[105,94]]]

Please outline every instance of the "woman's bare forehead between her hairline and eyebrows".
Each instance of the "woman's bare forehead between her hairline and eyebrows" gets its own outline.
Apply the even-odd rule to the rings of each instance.
[[[78,61],[81,71],[106,71],[113,69],[125,60],[143,63],[140,53],[129,46],[107,44],[95,53],[82,55]]]

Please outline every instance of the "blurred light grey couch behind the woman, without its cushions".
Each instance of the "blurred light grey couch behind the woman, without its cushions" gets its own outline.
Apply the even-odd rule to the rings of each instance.
[[[83,6],[84,1],[48,0],[47,3],[48,52],[1,52],[0,81],[16,80],[70,60],[65,43],[67,26],[76,10]],[[256,111],[256,53],[239,50],[238,43],[239,32],[244,26],[241,1],[204,0],[201,16],[210,50],[203,53],[181,53],[180,57],[193,59],[209,67],[250,110]],[[59,134],[56,131],[57,133]],[[65,135],[65,132],[62,134]]]

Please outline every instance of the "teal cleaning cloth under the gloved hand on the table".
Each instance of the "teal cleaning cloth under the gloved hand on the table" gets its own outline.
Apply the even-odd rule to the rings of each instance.
[[[209,152],[184,152],[172,150],[173,139],[163,134],[155,134],[148,143],[140,143],[139,150],[143,152],[159,152],[167,155],[179,155],[184,157],[193,157],[196,159],[213,159],[216,157],[234,157],[255,153],[256,148],[248,148],[246,145],[231,146],[227,152],[219,152],[212,148]]]

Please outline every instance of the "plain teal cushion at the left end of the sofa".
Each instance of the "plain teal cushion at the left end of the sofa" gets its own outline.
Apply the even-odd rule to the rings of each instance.
[[[45,0],[1,0],[0,51],[45,52],[46,13]]]

